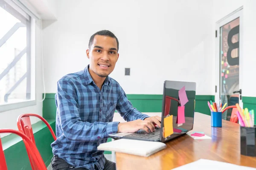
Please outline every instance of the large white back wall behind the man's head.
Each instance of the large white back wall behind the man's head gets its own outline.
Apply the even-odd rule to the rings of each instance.
[[[87,64],[90,36],[108,29],[120,43],[111,77],[126,94],[162,94],[164,80],[197,82],[214,94],[212,4],[205,0],[58,0],[58,21],[43,30],[46,92]],[[131,76],[124,76],[131,68]]]

